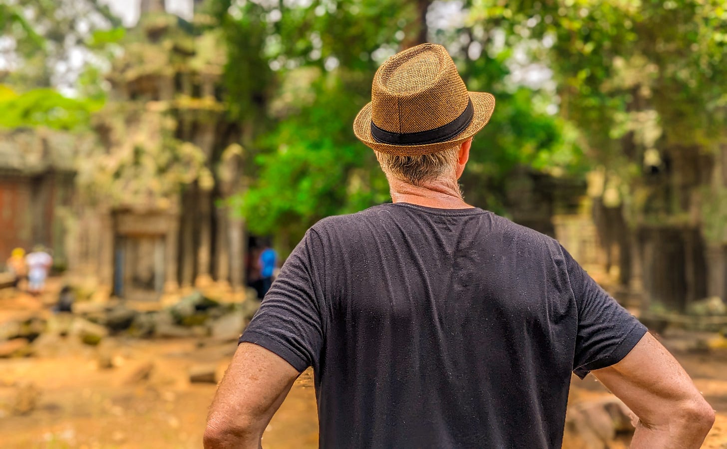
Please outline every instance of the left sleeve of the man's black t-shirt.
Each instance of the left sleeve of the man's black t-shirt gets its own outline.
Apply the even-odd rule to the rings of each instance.
[[[323,320],[308,230],[281,267],[239,342],[247,341],[283,357],[298,371],[318,360],[323,345]]]

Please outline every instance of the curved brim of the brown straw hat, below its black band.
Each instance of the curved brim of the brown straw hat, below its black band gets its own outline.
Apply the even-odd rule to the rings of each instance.
[[[423,154],[437,153],[441,150],[451,148],[452,145],[465,142],[465,140],[473,137],[490,121],[492,112],[495,109],[495,97],[487,92],[467,92],[470,94],[473,108],[475,109],[472,121],[464,131],[457,134],[456,137],[446,140],[445,142],[429,143],[426,145],[390,145],[387,143],[377,142],[371,136],[371,103],[364,106],[353,121],[353,134],[356,134],[361,142],[373,150],[380,153],[417,156]]]

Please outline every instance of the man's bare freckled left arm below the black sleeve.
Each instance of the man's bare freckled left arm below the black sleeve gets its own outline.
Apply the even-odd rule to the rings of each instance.
[[[241,343],[209,409],[204,448],[260,448],[262,432],[299,375],[268,349]]]

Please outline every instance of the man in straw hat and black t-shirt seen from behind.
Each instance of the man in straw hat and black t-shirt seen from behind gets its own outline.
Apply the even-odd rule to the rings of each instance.
[[[356,136],[392,204],[310,228],[241,336],[206,448],[259,448],[316,375],[321,448],[558,448],[571,372],[638,416],[634,448],[699,448],[714,412],[678,362],[553,239],[468,205],[494,110],[424,44],[377,70]]]

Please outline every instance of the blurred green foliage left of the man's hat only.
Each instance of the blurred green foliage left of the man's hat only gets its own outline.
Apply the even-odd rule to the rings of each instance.
[[[371,52],[396,44],[411,21],[408,10],[390,15],[394,4],[314,1],[281,11],[210,2],[228,45],[230,112],[256,132],[243,135],[252,185],[231,200],[252,232],[293,242],[318,219],[387,200],[385,178],[352,123],[370,100]]]

